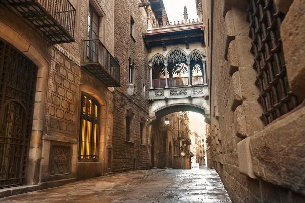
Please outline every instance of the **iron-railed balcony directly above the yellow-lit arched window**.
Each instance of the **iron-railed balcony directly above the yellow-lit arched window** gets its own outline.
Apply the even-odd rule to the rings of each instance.
[[[107,87],[120,86],[120,66],[100,40],[83,40],[81,67]]]

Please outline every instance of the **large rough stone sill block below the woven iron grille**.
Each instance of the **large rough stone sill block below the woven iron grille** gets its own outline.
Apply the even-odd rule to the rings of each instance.
[[[250,137],[253,171],[259,179],[305,194],[304,126],[305,102]]]

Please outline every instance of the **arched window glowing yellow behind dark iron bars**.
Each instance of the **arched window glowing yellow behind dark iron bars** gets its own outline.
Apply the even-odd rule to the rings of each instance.
[[[81,95],[79,160],[98,161],[100,105],[92,96]]]

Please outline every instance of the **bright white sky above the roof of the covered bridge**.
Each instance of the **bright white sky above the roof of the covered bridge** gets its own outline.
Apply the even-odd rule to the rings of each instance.
[[[187,7],[188,18],[196,20],[196,0],[163,0],[169,22],[183,20],[183,8]]]

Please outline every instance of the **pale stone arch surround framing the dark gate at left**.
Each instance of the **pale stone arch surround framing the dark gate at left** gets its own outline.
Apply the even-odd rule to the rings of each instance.
[[[0,22],[0,38],[14,46],[18,51],[24,54],[38,68],[35,89],[35,101],[33,111],[32,130],[29,140],[29,156],[27,161],[27,173],[25,183],[30,185],[38,184],[40,173],[42,135],[44,130],[44,109],[47,101],[47,89],[49,79],[50,63],[41,53],[46,53],[30,40],[21,36],[16,30]]]

